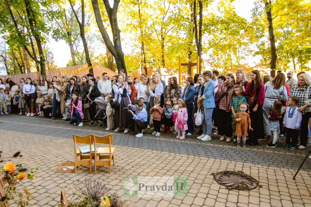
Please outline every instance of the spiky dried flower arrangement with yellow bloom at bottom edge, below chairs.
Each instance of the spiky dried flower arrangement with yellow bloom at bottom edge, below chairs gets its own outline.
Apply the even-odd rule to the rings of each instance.
[[[77,190],[68,207],[132,207],[129,200],[121,200],[117,193],[110,193],[110,188],[96,179],[86,178],[74,182]],[[63,207],[62,203],[57,205]]]

